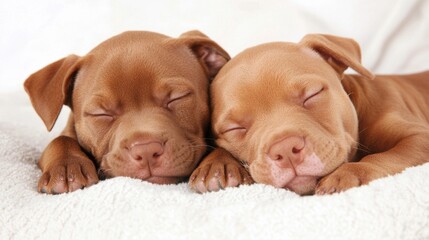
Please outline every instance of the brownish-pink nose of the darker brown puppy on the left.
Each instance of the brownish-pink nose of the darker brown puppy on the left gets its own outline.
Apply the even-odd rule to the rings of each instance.
[[[151,162],[164,153],[164,146],[160,142],[135,143],[129,147],[132,159]]]

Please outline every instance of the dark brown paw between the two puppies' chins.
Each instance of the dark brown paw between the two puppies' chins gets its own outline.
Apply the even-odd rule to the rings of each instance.
[[[199,193],[252,183],[246,169],[223,149],[216,149],[203,159],[189,179],[189,186]]]

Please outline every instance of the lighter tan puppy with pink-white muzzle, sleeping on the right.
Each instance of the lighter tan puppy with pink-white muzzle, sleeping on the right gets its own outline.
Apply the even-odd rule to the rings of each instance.
[[[299,194],[340,192],[427,162],[429,72],[374,78],[360,58],[355,41],[328,35],[245,50],[211,86],[217,144],[256,182]],[[348,67],[360,75],[344,74]],[[191,187],[228,186],[223,166],[234,164],[216,150]]]

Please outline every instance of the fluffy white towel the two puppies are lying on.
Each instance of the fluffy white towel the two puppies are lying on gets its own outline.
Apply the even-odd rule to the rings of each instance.
[[[331,196],[260,184],[201,195],[125,177],[46,195],[47,140],[0,124],[0,239],[429,239],[429,164]]]

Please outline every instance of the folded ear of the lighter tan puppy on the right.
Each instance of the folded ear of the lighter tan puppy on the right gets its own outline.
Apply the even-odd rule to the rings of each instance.
[[[299,43],[318,52],[340,76],[350,67],[362,76],[373,79],[374,75],[361,65],[360,47],[350,38],[323,34],[308,34]]]

